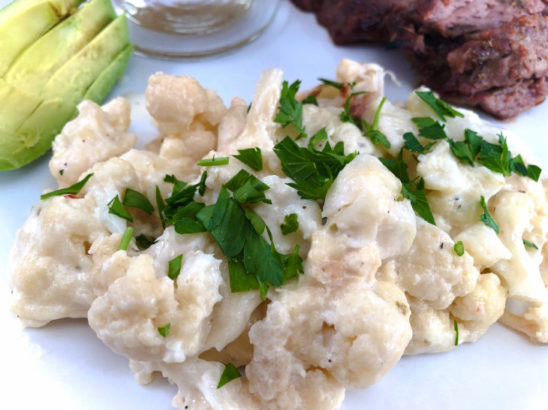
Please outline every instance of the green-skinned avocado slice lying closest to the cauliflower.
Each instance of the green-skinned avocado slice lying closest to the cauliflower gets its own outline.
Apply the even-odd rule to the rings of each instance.
[[[73,118],[75,106],[128,45],[127,21],[121,15],[57,70],[44,87],[43,101],[15,134],[0,133],[0,170],[21,167],[43,155]]]

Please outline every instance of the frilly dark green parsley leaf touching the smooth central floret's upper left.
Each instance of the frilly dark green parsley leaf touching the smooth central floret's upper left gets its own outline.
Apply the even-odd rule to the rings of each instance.
[[[339,172],[357,153],[344,155],[344,143],[333,148],[326,143],[321,151],[314,147],[300,147],[286,137],[274,146],[282,163],[282,170],[293,180],[288,185],[295,188],[303,199],[324,200],[329,187]]]

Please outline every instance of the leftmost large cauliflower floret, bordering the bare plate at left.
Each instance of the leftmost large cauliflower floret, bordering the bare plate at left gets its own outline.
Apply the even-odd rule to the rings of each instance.
[[[25,325],[86,317],[94,298],[88,251],[108,234],[94,209],[92,198],[53,197],[35,205],[18,231],[9,259],[12,311]]]

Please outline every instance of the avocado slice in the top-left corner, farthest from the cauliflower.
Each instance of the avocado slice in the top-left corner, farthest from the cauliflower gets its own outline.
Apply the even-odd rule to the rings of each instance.
[[[18,0],[0,11],[0,77],[17,56],[83,0]]]

